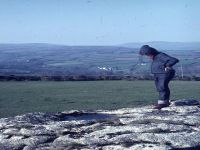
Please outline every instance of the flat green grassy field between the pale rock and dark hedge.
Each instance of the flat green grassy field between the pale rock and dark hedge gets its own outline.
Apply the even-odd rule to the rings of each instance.
[[[172,81],[171,99],[200,100],[200,82]],[[0,117],[27,112],[117,109],[155,103],[153,81],[0,82]]]

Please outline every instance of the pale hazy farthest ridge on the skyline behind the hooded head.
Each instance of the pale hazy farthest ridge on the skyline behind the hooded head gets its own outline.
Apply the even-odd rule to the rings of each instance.
[[[121,46],[130,48],[140,48],[142,45],[150,45],[160,50],[200,50],[200,42],[143,42],[143,43],[125,43]]]

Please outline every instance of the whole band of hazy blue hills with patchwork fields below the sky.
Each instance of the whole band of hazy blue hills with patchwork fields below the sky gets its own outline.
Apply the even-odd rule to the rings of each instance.
[[[183,70],[184,75],[200,76],[198,43],[175,42],[119,46],[0,44],[0,75],[149,75],[151,61],[138,55],[138,49],[143,44],[164,49],[177,57],[180,60],[175,66],[178,75]]]

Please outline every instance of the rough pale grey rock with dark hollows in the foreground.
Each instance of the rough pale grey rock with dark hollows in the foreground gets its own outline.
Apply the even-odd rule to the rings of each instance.
[[[0,149],[200,149],[200,106],[179,100],[162,110],[145,106],[2,118]]]

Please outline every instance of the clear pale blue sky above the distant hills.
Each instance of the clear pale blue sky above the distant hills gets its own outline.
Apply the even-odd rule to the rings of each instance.
[[[199,0],[0,0],[0,43],[200,41]]]

